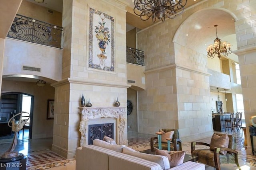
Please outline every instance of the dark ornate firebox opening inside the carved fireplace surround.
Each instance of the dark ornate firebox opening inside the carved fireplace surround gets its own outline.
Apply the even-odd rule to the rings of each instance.
[[[92,141],[94,139],[103,140],[104,136],[114,139],[114,123],[102,123],[88,125],[89,129],[89,139],[88,144],[93,145]]]

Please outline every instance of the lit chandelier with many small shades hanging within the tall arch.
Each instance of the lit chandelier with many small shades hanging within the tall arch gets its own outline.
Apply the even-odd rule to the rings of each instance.
[[[223,54],[224,56],[228,56],[229,54],[232,53],[232,51],[230,50],[230,43],[227,44],[227,42],[223,42],[221,43],[221,39],[218,38],[218,35],[217,35],[217,26],[218,25],[214,25],[214,27],[216,28],[216,39],[214,39],[214,44],[212,45],[209,45],[207,47],[207,57],[213,59],[214,56],[216,54],[218,54],[218,57],[220,59],[220,54]]]

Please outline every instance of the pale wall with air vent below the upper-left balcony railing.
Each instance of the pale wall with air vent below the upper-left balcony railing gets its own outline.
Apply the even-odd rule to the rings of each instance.
[[[6,38],[4,51],[4,76],[40,76],[51,79],[48,83],[62,79],[62,49]],[[40,68],[40,71],[23,70],[23,66]]]

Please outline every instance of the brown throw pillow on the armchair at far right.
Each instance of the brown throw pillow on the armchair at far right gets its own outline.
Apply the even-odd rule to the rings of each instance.
[[[214,133],[212,135],[212,139],[211,139],[211,143],[210,143],[210,150],[214,150],[215,147],[227,148],[228,147],[228,142],[229,142],[228,134],[219,136],[219,135],[216,135]],[[227,151],[226,150],[220,150],[220,153],[223,154],[223,155],[226,155]]]

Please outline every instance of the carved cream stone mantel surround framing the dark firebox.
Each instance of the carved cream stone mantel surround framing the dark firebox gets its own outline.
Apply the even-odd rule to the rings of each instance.
[[[98,119],[112,117],[116,119],[117,130],[116,137],[119,145],[125,145],[124,126],[125,126],[125,107],[79,107],[81,111],[81,121],[79,131],[81,132],[80,146],[88,145],[88,121],[89,119]]]

